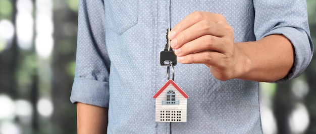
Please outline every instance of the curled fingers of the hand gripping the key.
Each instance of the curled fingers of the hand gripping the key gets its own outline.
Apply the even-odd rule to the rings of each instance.
[[[227,53],[234,32],[222,15],[194,12],[173,28],[169,38],[177,56],[202,51]]]

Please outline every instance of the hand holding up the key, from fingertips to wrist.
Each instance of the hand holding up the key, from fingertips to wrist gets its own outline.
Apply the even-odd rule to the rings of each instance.
[[[234,31],[223,15],[193,12],[170,31],[171,47],[180,63],[202,63],[219,80],[247,72],[249,60],[234,44]]]

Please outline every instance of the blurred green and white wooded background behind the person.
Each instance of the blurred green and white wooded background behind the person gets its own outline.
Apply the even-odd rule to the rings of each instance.
[[[316,1],[307,0],[316,41]],[[76,133],[69,101],[78,0],[0,0],[0,134]],[[316,133],[316,61],[300,77],[260,83],[262,128]]]

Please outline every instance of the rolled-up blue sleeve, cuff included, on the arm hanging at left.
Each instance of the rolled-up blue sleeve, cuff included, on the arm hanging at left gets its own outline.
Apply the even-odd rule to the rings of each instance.
[[[109,106],[110,59],[105,41],[104,4],[101,0],[79,1],[76,75],[72,103]]]

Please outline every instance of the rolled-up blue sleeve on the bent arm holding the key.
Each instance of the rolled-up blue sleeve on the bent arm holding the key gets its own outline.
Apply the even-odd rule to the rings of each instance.
[[[282,34],[294,48],[295,59],[289,74],[276,82],[295,78],[303,73],[311,61],[313,44],[310,37],[306,1],[253,1],[256,40],[268,35]]]

